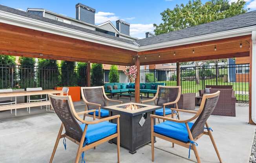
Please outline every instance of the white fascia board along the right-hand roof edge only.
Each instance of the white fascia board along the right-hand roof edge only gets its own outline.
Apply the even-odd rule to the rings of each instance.
[[[223,38],[243,36],[243,35],[252,34],[252,31],[254,31],[254,30],[256,30],[256,25],[250,26],[250,27],[239,28],[239,29],[232,29],[229,31],[205,34],[205,35],[201,35],[201,36],[194,36],[194,37],[190,37],[190,38],[183,38],[183,39],[173,40],[173,41],[168,41],[168,42],[144,45],[144,46],[139,47],[138,51],[147,51],[147,50],[160,49],[160,48],[165,48],[165,47],[186,45],[186,44],[190,44],[190,43],[206,42],[206,41],[212,41],[212,40],[219,40],[219,39],[223,39]]]

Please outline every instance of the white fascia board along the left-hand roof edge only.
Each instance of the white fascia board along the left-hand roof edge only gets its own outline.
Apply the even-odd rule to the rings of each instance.
[[[85,33],[75,29],[70,29],[67,27],[62,27],[59,25],[42,22],[40,20],[35,20],[32,18],[27,18],[17,14],[7,13],[4,11],[0,11],[0,22],[5,24],[16,25],[16,26],[24,27],[28,29],[34,29],[37,31],[58,34],[58,35],[66,36],[70,38],[76,38],[79,40],[100,43],[100,44],[109,45],[113,47],[119,47],[119,48],[128,49],[132,51],[137,51],[138,49],[137,45],[131,45],[129,43],[112,40],[110,38],[105,38],[102,36],[97,36],[95,34]]]

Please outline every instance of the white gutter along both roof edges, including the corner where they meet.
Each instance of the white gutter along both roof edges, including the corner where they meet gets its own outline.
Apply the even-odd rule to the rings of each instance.
[[[217,39],[223,39],[223,38],[231,38],[236,36],[243,36],[247,34],[252,34],[252,31],[256,31],[256,25],[254,25],[251,27],[232,29],[229,31],[205,34],[201,36],[194,36],[190,38],[184,38],[184,39],[168,41],[163,43],[155,43],[152,45],[144,45],[140,47],[137,45],[137,43],[135,43],[136,45],[131,45],[129,43],[112,40],[110,38],[105,38],[95,34],[85,33],[82,31],[70,29],[67,27],[62,27],[55,24],[50,24],[47,22],[42,22],[40,20],[27,18],[24,16],[8,13],[5,11],[0,11],[0,22],[5,24],[16,25],[20,27],[25,27],[28,29],[35,29],[37,31],[58,34],[61,36],[67,36],[70,38],[76,38],[79,40],[85,40],[85,41],[100,43],[100,44],[109,45],[113,47],[119,47],[122,49],[128,49],[128,50],[137,51],[137,52],[165,48],[165,47],[174,47],[178,45],[186,45],[190,43],[205,42],[205,41],[217,40]]]

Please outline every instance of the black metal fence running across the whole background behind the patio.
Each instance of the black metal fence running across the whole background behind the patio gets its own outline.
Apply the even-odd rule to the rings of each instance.
[[[249,63],[234,65],[202,65],[180,68],[182,93],[198,94],[205,85],[232,85],[238,101],[249,101]],[[91,69],[91,86],[108,82],[128,83],[129,80],[120,70]],[[177,85],[177,69],[146,69],[140,71],[140,82],[164,82]],[[86,86],[86,68],[61,69],[60,67],[9,66],[0,65],[0,89],[42,87],[53,89],[56,86]]]

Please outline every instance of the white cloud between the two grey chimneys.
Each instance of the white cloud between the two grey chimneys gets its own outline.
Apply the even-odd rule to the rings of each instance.
[[[95,13],[95,23],[100,24],[107,22],[108,20],[110,21],[116,21],[119,19],[119,16],[115,16],[115,13],[106,13],[99,11],[98,13]]]

